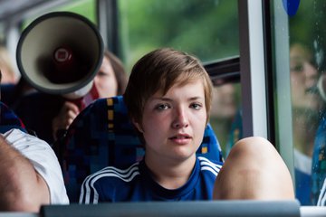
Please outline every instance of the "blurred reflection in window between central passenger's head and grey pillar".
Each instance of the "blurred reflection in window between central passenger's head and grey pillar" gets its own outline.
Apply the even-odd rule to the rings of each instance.
[[[239,86],[239,83],[225,83],[215,86],[213,92],[210,124],[216,132],[224,157],[227,156],[231,146],[242,137],[240,135],[242,121],[241,118],[236,118],[240,112]]]

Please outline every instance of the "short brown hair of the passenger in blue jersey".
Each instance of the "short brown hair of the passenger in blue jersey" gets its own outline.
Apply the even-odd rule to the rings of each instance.
[[[184,85],[202,79],[207,119],[212,100],[212,81],[202,63],[186,52],[162,48],[143,56],[131,70],[124,101],[130,118],[141,123],[146,101],[158,90],[166,94],[175,84]]]

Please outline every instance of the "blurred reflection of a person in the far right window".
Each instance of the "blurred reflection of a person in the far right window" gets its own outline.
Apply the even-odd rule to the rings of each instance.
[[[290,46],[292,90],[292,137],[296,197],[302,205],[312,205],[312,152],[324,103],[316,91],[320,72],[313,61],[312,49],[303,43]]]

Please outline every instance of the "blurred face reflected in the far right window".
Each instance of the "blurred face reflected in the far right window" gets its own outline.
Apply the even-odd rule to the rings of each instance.
[[[290,51],[293,108],[316,110],[321,104],[316,91],[310,91],[316,86],[318,80],[318,71],[312,65],[310,55],[299,45],[294,45]]]

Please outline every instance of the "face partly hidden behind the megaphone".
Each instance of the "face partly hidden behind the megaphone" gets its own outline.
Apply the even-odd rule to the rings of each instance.
[[[94,78],[94,83],[100,98],[109,98],[117,95],[117,79],[107,57],[103,58],[100,71]]]

